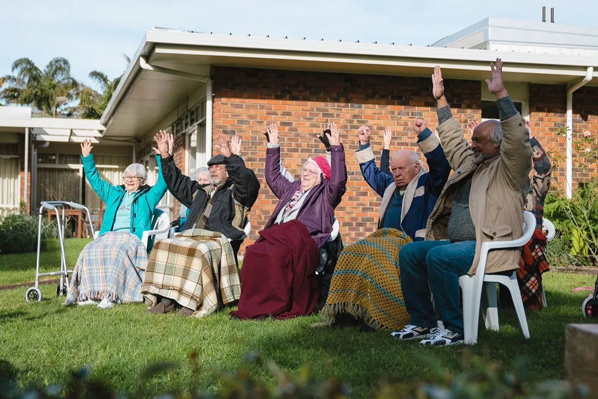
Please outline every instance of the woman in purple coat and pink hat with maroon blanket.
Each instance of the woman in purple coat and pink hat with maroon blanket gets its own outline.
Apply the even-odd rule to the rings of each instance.
[[[327,126],[331,165],[308,158],[301,179],[280,174],[279,131],[270,124],[266,182],[279,199],[260,238],[249,246],[241,269],[239,310],[233,318],[291,318],[310,314],[319,297],[315,271],[320,250],[330,237],[334,208],[346,191],[347,168],[340,131]]]

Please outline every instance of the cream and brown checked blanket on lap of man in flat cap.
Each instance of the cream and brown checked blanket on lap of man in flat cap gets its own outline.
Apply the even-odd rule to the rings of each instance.
[[[157,295],[209,315],[239,300],[241,284],[233,247],[219,232],[188,229],[155,243],[141,286],[150,308]]]

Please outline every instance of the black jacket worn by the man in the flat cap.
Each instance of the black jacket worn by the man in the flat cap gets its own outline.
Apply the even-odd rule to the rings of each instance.
[[[181,204],[189,208],[183,230],[193,227],[196,217],[201,216],[209,201],[209,185],[200,185],[196,180],[181,173],[171,156],[162,158],[162,174],[168,190]],[[243,226],[260,192],[260,182],[254,171],[245,166],[243,159],[232,154],[224,158],[228,179],[218,191],[208,218],[211,231],[224,234],[231,240],[243,237]]]

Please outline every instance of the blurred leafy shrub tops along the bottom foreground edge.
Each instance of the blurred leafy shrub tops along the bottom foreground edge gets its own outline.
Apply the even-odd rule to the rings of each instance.
[[[432,357],[419,359],[423,363],[423,375],[419,380],[401,385],[382,383],[379,392],[373,397],[378,399],[390,398],[417,398],[417,399],[457,399],[457,398],[581,398],[587,397],[589,392],[585,386],[570,386],[563,381],[537,381],[526,368],[523,358],[517,358],[509,370],[501,364],[472,356],[468,349],[463,351],[463,371],[453,374],[450,370],[440,366],[440,362]],[[5,362],[8,363],[8,362]],[[189,356],[189,367],[192,380],[199,377],[197,352]],[[144,385],[157,375],[171,370],[179,369],[176,363],[157,363],[149,366],[136,378],[139,382],[137,392],[132,392],[130,397],[160,397],[170,399],[175,397],[191,397],[198,399],[240,399],[240,398],[329,398],[342,399],[350,397],[350,387],[337,379],[328,379],[316,382],[312,379],[309,365],[300,370],[297,377],[292,377],[284,372],[272,360],[263,361],[259,354],[250,353],[245,358],[245,363],[239,372],[216,372],[219,380],[218,393],[214,395],[202,394],[193,386],[181,386],[179,392],[162,393],[148,392]],[[275,377],[276,385],[269,386],[254,379],[249,369],[266,367]],[[14,376],[16,370],[10,363],[4,364],[5,372],[2,373],[0,361],[0,397],[36,397],[36,398],[108,398],[125,397],[115,392],[108,384],[90,376],[89,369],[81,369],[72,373],[71,378],[63,385],[38,386],[30,388],[23,395],[16,392]],[[427,375],[425,375],[427,373]],[[4,394],[4,396],[2,395]]]

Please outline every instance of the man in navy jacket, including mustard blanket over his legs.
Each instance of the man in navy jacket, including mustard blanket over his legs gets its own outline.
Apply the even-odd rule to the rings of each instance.
[[[380,220],[375,232],[344,248],[338,258],[322,308],[328,326],[358,325],[370,331],[398,329],[409,321],[399,283],[399,251],[412,240],[423,240],[426,220],[450,173],[440,140],[426,122],[417,119],[413,130],[429,172],[420,164],[419,156],[407,149],[392,155],[390,174],[381,171],[370,148],[370,128],[359,128],[359,150],[355,155],[365,181],[382,197]],[[391,136],[390,128],[386,128],[385,151],[389,151]]]

